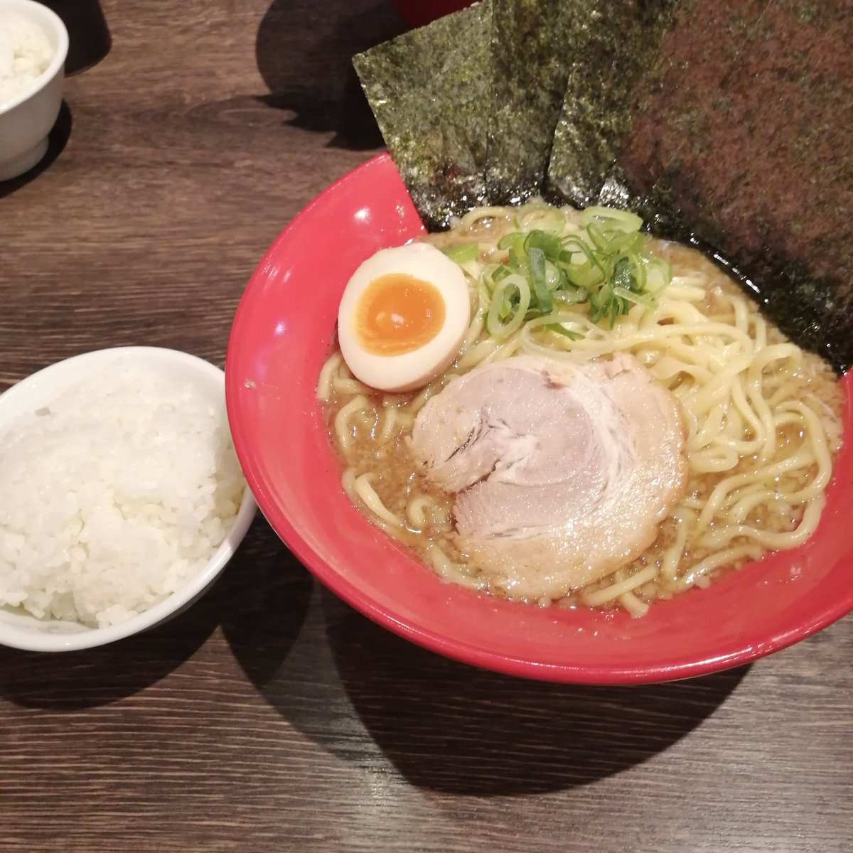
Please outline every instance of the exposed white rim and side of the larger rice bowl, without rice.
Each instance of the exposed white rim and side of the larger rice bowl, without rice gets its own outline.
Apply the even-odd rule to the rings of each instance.
[[[185,373],[194,373],[203,378],[200,383],[203,392],[205,383],[222,382],[224,386],[223,370],[188,352],[160,346],[107,347],[49,364],[0,393],[0,430],[15,417],[26,412],[27,407],[32,405],[28,402],[29,400],[44,399],[51,394],[60,393],[67,386],[84,379],[97,368],[125,357],[131,363],[154,365],[162,369],[182,368]],[[8,607],[0,607],[0,645],[31,652],[77,651],[103,646],[127,636],[139,634],[177,615],[178,612],[191,606],[223,572],[243,537],[246,536],[256,508],[252,490],[247,485],[243,490],[240,508],[237,510],[233,525],[206,565],[200,572],[190,577],[183,587],[139,615],[104,628],[65,623],[75,627],[68,633],[53,633],[38,627],[26,627],[27,624],[38,623],[35,617],[26,612],[16,612]],[[46,620],[44,624],[50,624],[51,621],[53,624],[63,624],[55,620]]]

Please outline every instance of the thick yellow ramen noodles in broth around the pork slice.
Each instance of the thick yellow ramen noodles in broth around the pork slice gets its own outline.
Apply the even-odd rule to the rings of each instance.
[[[467,214],[450,235],[428,238],[443,247],[476,239],[480,247],[480,262],[463,266],[473,320],[448,374],[414,397],[377,395],[351,377],[338,352],[323,366],[317,397],[339,405],[333,432],[345,459],[359,435],[362,445],[374,450],[369,464],[380,471],[383,454],[409,434],[429,397],[454,375],[480,364],[517,353],[584,363],[629,352],[681,403],[688,429],[688,494],[664,521],[667,534],[662,532],[641,560],[567,601],[618,603],[642,616],[647,601],[704,586],[724,567],[803,543],[820,519],[840,441],[838,399],[827,402],[811,387],[811,380],[832,387],[820,360],[786,341],[697,253],[664,243],[652,247],[673,265],[670,286],[652,308],[635,305],[612,330],[590,322],[584,306],[573,306],[562,320],[583,339],[570,340],[535,324],[505,339],[490,337],[484,322],[489,293],[479,271],[482,261],[500,259],[496,243],[512,228],[514,213],[482,208]],[[574,213],[566,211],[568,229]],[[397,514],[380,499],[369,470],[357,474],[347,467],[343,483],[353,502],[392,536],[415,543],[441,577],[486,587],[476,567],[451,559],[442,548],[450,535],[449,502],[410,494]]]

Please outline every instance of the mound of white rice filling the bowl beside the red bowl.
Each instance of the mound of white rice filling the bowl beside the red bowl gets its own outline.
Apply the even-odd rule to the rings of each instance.
[[[244,485],[224,404],[115,363],[0,430],[0,605],[131,618],[205,566]]]

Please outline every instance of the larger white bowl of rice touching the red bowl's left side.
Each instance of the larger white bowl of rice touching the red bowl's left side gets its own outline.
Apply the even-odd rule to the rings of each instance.
[[[131,346],[0,394],[0,644],[100,646],[193,603],[255,513],[223,371]]]

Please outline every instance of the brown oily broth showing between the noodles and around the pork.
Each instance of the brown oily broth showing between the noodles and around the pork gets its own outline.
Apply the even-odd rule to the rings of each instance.
[[[485,241],[496,242],[497,239],[508,230],[512,229],[511,215],[498,215],[494,218],[486,218],[475,223],[472,228],[463,231],[450,231],[439,235],[429,235],[425,239],[439,248],[446,248],[455,244],[467,243],[472,239],[483,241],[481,243],[481,260],[488,259],[492,250],[485,247]],[[728,279],[721,270],[705,258],[700,252],[689,247],[679,246],[664,241],[649,241],[649,248],[660,257],[666,258],[673,270],[674,276],[702,276],[705,280],[704,304],[698,305],[707,315],[721,322],[731,322],[730,303],[724,298],[726,294],[742,296],[741,288]],[[472,299],[474,296],[472,294]],[[756,306],[746,300],[753,314],[757,313]],[[768,344],[786,342],[786,338],[777,329],[767,326]],[[642,352],[635,351],[635,357],[642,361]],[[360,386],[358,391],[364,398],[365,403],[357,415],[353,415],[347,421],[349,438],[347,447],[341,450],[337,439],[335,419],[342,407],[352,399],[352,389],[348,385],[351,374],[345,365],[341,365],[336,372],[342,381],[339,386],[342,391],[331,393],[328,402],[324,405],[327,417],[330,440],[336,447],[342,463],[342,467],[349,472],[349,484],[354,479],[366,477],[370,486],[378,496],[379,500],[393,515],[402,519],[402,525],[389,524],[370,512],[359,500],[353,497],[353,502],[368,517],[368,519],[388,531],[400,542],[412,548],[415,554],[427,562],[427,565],[435,567],[439,574],[444,574],[448,579],[456,580],[478,589],[485,589],[492,594],[506,595],[505,590],[496,587],[495,584],[483,583],[479,578],[479,568],[468,562],[467,554],[457,547],[453,537],[452,527],[452,498],[445,496],[440,490],[434,488],[421,470],[421,465],[412,456],[409,450],[409,437],[411,435],[411,424],[420,406],[430,397],[441,390],[450,379],[456,375],[466,372],[459,364],[459,359],[452,364],[448,371],[428,386],[426,391],[410,392],[406,394],[385,394],[375,392],[365,386]],[[838,380],[827,363],[821,358],[810,353],[804,353],[800,368],[787,381],[794,381],[798,386],[798,395],[809,397],[817,409],[827,414],[827,433],[829,445],[833,451],[833,460],[837,456],[840,442],[839,424],[842,409],[842,394]],[[358,383],[356,383],[358,385]],[[388,410],[394,409],[397,420],[397,428],[390,438],[383,440],[386,433]],[[780,427],[777,432],[777,442],[774,459],[783,457],[791,452],[804,441],[804,435],[796,425]],[[771,460],[772,461],[772,460]],[[765,460],[765,463],[767,460]],[[698,511],[704,502],[711,496],[715,486],[723,479],[732,477],[739,473],[747,473],[754,470],[760,464],[757,455],[745,456],[740,459],[736,467],[721,473],[693,473],[691,472],[688,482],[688,502],[695,505]],[[780,474],[776,482],[780,490],[799,489],[807,485],[809,479],[815,475],[816,466],[806,470],[799,470],[793,474]],[[345,479],[345,487],[347,481]],[[783,489],[784,487],[784,489]],[[420,500],[419,511],[414,515],[411,513],[413,502]],[[425,499],[424,499],[425,498]],[[786,533],[797,528],[802,519],[802,510],[786,506],[784,500],[776,500],[770,507],[759,506],[747,515],[746,519],[750,525],[756,526],[763,531]],[[715,522],[711,522],[710,530],[713,531]],[[575,606],[584,604],[583,600],[592,596],[600,590],[612,587],[625,578],[634,575],[635,572],[647,569],[651,566],[660,568],[665,560],[668,550],[676,543],[679,536],[679,523],[670,515],[669,518],[659,526],[659,534],[653,545],[633,561],[617,572],[604,577],[601,581],[589,584],[583,589],[573,590],[565,598],[557,602],[559,606]],[[683,534],[682,534],[683,537]],[[700,537],[699,537],[700,538]],[[742,558],[735,554],[734,559],[725,561],[720,566],[711,566],[703,570],[701,577],[697,577],[695,585],[705,586],[711,583],[714,577],[722,572],[737,568],[749,560],[755,560],[762,554],[768,553],[772,548],[750,546],[747,537],[734,537],[728,543],[729,548],[734,548],[733,554],[738,551],[748,552]],[[440,548],[437,551],[435,546]],[[742,546],[742,547],[740,547]],[[680,566],[701,566],[703,560],[712,559],[712,555],[720,548],[714,548],[697,541],[696,537],[689,535],[683,543],[683,555]],[[436,562],[436,554],[444,554],[446,560],[439,558]],[[447,561],[453,564],[454,574],[450,577],[442,571],[442,566]],[[470,578],[468,582],[467,578]],[[691,582],[692,583],[692,582]],[[633,589],[633,594],[642,602],[651,602],[658,599],[670,598],[677,591],[685,589],[682,583],[670,583],[666,578],[658,577],[643,583],[640,587]],[[551,601],[539,601],[545,605]],[[618,606],[618,599],[602,602],[602,607]]]

